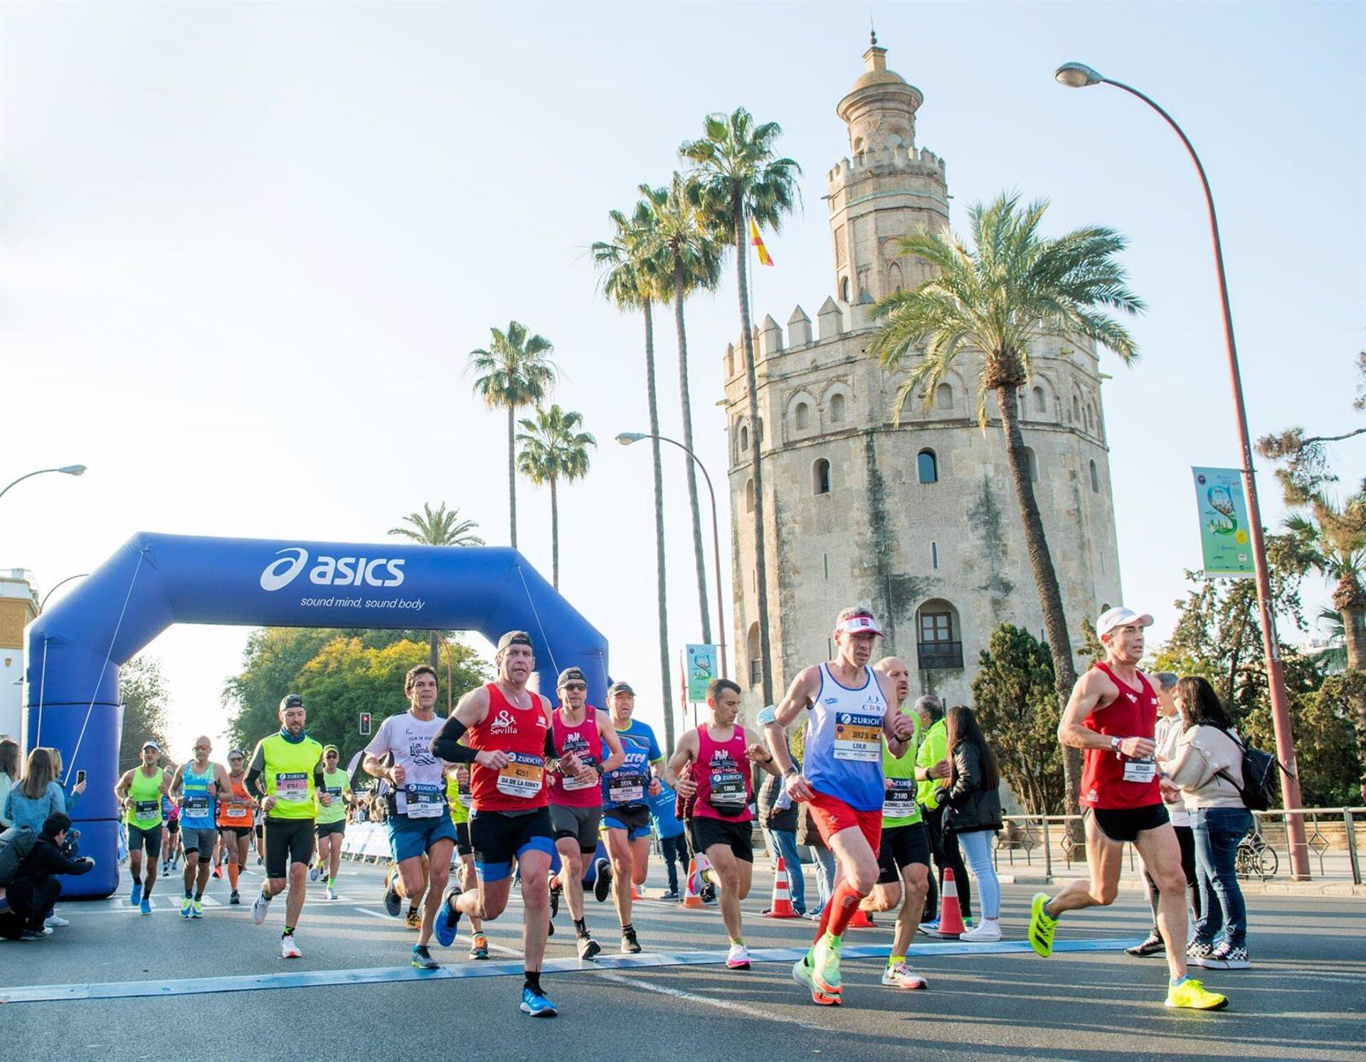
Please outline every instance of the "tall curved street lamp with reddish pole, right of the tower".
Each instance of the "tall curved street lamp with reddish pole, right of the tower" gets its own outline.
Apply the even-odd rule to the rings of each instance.
[[[1091,85],[1113,85],[1123,89],[1130,96],[1135,96],[1162,116],[1168,126],[1182,138],[1186,150],[1199,173],[1201,187],[1205,190],[1205,206],[1209,209],[1209,232],[1214,243],[1214,273],[1218,277],[1218,298],[1224,311],[1224,345],[1228,352],[1228,375],[1233,386],[1233,415],[1238,422],[1238,445],[1243,460],[1243,491],[1247,496],[1247,519],[1251,527],[1247,528],[1253,545],[1253,569],[1257,575],[1257,606],[1262,617],[1262,650],[1266,654],[1266,684],[1272,698],[1272,725],[1276,729],[1276,755],[1290,770],[1281,781],[1281,797],[1285,809],[1298,808],[1300,804],[1299,777],[1295,766],[1295,736],[1291,733],[1290,706],[1285,703],[1285,676],[1281,669],[1280,642],[1276,637],[1276,614],[1272,609],[1272,583],[1266,566],[1266,542],[1262,538],[1262,513],[1257,501],[1257,480],[1253,476],[1253,445],[1247,435],[1247,408],[1243,404],[1243,378],[1238,369],[1238,347],[1233,343],[1233,314],[1228,304],[1228,280],[1224,276],[1224,246],[1218,239],[1218,216],[1214,213],[1214,194],[1209,190],[1209,177],[1205,176],[1205,167],[1195,154],[1195,146],[1186,132],[1176,124],[1176,119],[1168,115],[1156,101],[1141,93],[1138,89],[1123,82],[1105,78],[1083,63],[1064,63],[1055,72],[1053,78],[1059,85],[1068,89],[1086,89]],[[1295,879],[1309,878],[1309,849],[1305,844],[1305,820],[1299,815],[1285,816],[1285,831],[1290,837],[1290,867]]]

